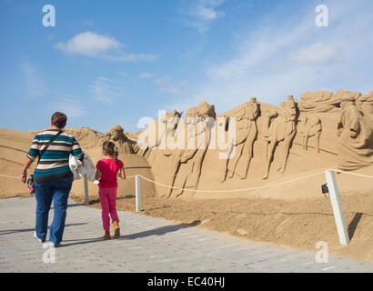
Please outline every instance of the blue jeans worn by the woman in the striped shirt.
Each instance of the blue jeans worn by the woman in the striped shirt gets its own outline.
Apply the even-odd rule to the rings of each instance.
[[[36,196],[36,236],[46,238],[49,209],[54,201],[54,217],[49,229],[49,241],[58,245],[64,235],[67,199],[74,178],[62,178],[44,183],[35,183]]]

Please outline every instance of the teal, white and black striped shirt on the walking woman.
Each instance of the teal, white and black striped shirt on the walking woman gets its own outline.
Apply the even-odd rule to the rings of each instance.
[[[35,161],[40,156],[46,144],[59,132],[59,129],[47,129],[42,133],[35,135],[27,157]],[[73,135],[62,133],[46,149],[40,158],[39,164],[35,168],[34,178],[36,183],[55,180],[59,178],[73,177],[73,172],[69,166],[70,154],[76,156],[80,161],[84,154],[76,138]]]

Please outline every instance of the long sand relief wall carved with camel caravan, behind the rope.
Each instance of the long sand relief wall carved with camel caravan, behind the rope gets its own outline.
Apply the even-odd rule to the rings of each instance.
[[[147,129],[163,129],[158,131],[156,143],[147,142],[144,147],[142,138],[138,146],[143,149],[137,154],[146,156],[156,181],[176,187],[156,186],[156,193],[166,197],[190,194],[201,187],[232,188],[230,181],[237,183],[234,177],[243,181],[279,177],[287,172],[294,156],[307,161],[303,166],[308,170],[333,165],[343,170],[370,166],[372,93],[307,92],[299,101],[289,95],[279,107],[252,97],[221,115],[216,114],[214,105],[201,102],[188,108],[185,119],[174,110],[149,125]],[[346,99],[353,101],[347,105]],[[190,126],[195,130],[187,130]],[[229,140],[229,129],[236,132],[235,140]],[[217,148],[219,132],[226,141],[225,150]],[[184,148],[162,148],[162,142],[167,144],[165,136],[175,140],[180,133],[185,136]],[[195,147],[187,148],[191,140]],[[223,152],[228,159],[219,156]],[[289,172],[300,167],[291,165]]]

